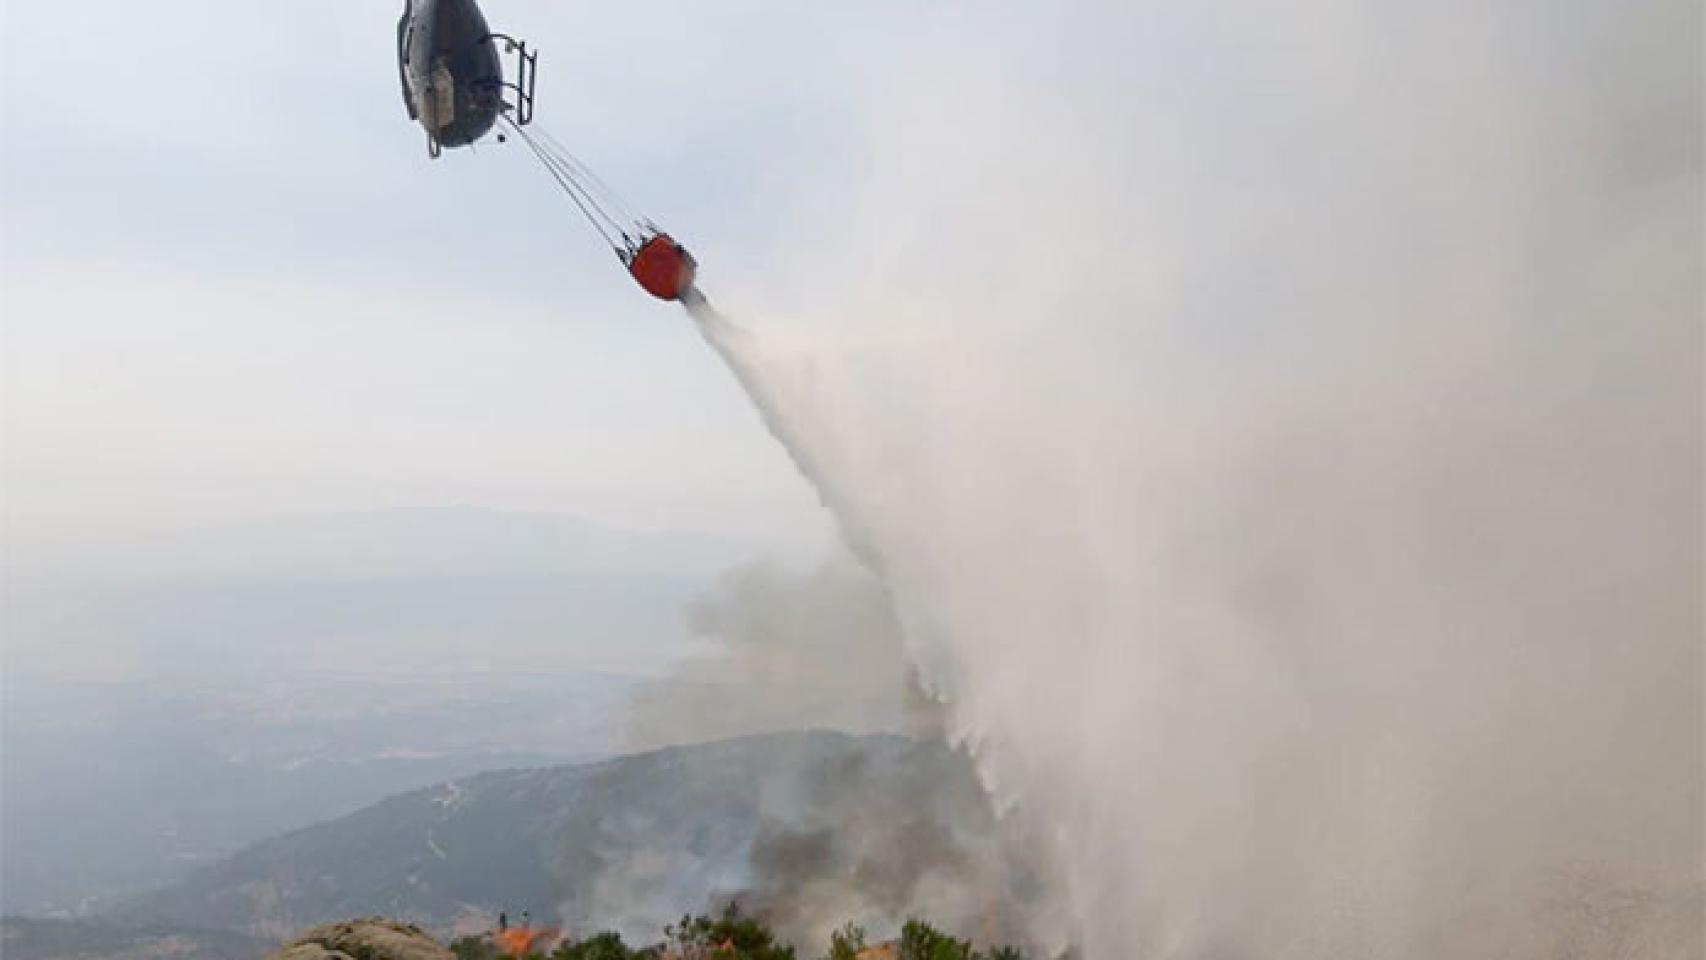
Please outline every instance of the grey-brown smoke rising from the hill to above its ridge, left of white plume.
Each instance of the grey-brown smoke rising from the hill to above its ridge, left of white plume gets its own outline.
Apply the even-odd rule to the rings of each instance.
[[[880,580],[848,556],[805,571],[754,563],[689,622],[710,648],[633,694],[635,749],[812,728],[916,740],[836,740],[797,776],[768,779],[752,832],[723,847],[686,854],[624,836],[587,871],[597,883],[575,919],[643,938],[667,911],[734,902],[814,948],[846,922],[884,938],[914,916],[1003,943],[1029,936],[1024,921],[1042,909],[1034,844],[996,822],[971,759],[942,745],[942,706],[906,663]]]

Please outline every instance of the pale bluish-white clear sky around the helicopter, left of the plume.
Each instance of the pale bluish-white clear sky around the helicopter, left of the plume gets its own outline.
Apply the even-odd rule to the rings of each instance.
[[[397,7],[5,5],[14,546],[423,505],[819,542],[728,375],[519,145],[426,160]],[[858,24],[488,7],[543,51],[541,123],[713,297],[775,307],[769,264],[810,256],[780,213],[860,162]]]

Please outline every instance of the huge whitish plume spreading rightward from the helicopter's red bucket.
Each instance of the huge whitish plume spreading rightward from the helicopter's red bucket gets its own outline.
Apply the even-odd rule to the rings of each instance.
[[[696,310],[1032,934],[1697,957],[1699,9],[1097,12],[902,84],[817,315]]]

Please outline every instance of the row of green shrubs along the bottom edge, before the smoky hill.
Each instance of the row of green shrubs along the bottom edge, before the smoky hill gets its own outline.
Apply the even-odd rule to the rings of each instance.
[[[503,960],[491,934],[464,936],[450,945],[457,960]],[[957,940],[923,921],[906,921],[901,938],[887,945],[870,945],[865,931],[848,924],[829,936],[822,960],[1025,960],[1012,946],[976,950],[969,940]],[[549,953],[527,953],[517,960],[798,960],[793,945],[776,940],[775,931],[756,917],[730,905],[718,917],[688,916],[664,928],[664,941],[628,946],[618,933],[601,933],[585,940],[556,945]]]

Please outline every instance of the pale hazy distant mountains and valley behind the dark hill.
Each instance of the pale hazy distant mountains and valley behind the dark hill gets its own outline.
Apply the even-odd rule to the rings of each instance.
[[[609,755],[746,556],[479,508],[9,542],[0,911],[85,917],[404,789]]]

